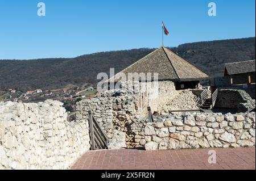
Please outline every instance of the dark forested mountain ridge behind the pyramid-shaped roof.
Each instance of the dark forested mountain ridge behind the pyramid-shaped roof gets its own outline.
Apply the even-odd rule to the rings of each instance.
[[[224,64],[255,59],[255,37],[203,41],[170,48],[210,77],[223,75]],[[0,60],[0,88],[22,91],[56,89],[69,83],[96,83],[97,74],[115,73],[138,61],[155,48],[85,54],[75,58]]]

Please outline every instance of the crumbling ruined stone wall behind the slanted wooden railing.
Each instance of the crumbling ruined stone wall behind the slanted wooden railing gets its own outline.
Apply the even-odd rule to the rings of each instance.
[[[174,83],[171,81],[153,83],[128,82],[121,83],[121,89],[104,91],[92,99],[84,99],[76,105],[77,119],[89,119],[88,111],[92,110],[103,131],[110,141],[116,131],[125,132],[127,148],[133,148],[134,134],[131,125],[141,117],[147,117],[147,107],[152,112],[159,111],[160,105],[170,102],[177,95]],[[147,92],[144,91],[146,87]],[[159,89],[159,94],[152,96],[152,92]],[[148,93],[149,92],[149,93]],[[113,142],[110,144],[112,145]],[[117,148],[113,145],[113,148]]]

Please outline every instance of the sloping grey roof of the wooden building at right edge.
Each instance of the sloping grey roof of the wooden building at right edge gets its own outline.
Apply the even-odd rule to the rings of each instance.
[[[225,64],[225,75],[251,73],[255,71],[255,60]]]

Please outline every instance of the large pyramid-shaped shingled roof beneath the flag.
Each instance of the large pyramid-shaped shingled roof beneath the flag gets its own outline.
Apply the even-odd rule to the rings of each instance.
[[[160,47],[120,73],[158,73],[159,80],[209,79],[209,76],[166,47]],[[120,73],[115,75],[118,81]],[[114,77],[110,78],[112,82]],[[143,79],[142,79],[143,80]]]

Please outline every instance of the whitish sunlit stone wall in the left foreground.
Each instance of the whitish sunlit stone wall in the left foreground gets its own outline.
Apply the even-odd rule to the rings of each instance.
[[[67,169],[90,148],[88,121],[67,121],[63,103],[0,106],[0,169]]]

